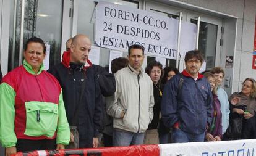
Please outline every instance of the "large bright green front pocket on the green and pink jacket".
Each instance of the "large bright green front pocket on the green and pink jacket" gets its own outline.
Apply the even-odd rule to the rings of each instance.
[[[58,125],[58,105],[50,102],[25,102],[27,136],[54,136]]]

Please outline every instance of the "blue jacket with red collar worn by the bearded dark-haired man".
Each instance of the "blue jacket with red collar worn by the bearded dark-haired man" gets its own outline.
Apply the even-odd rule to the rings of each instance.
[[[202,134],[211,123],[213,97],[206,78],[198,73],[194,80],[184,70],[168,81],[163,91],[161,113],[164,125],[171,128],[179,123],[179,128],[191,134]],[[183,78],[179,91],[180,78]]]

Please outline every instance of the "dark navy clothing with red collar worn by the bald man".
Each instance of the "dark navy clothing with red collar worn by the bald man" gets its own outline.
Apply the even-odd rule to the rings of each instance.
[[[98,135],[101,127],[102,115],[98,75],[92,66],[79,68],[79,65],[70,64],[69,61],[70,52],[64,52],[62,62],[48,72],[52,73],[61,84],[69,125],[78,126],[79,147],[92,147],[93,137]],[[82,79],[85,79],[84,83]],[[85,85],[84,88],[82,84]],[[81,89],[83,89],[82,100],[79,102]],[[79,114],[75,115],[77,107]]]

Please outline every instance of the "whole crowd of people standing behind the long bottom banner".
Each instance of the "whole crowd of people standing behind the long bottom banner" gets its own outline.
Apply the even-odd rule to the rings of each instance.
[[[0,141],[9,156],[19,151],[96,148],[256,138],[256,81],[241,92],[221,88],[224,70],[199,73],[200,51],[187,52],[186,68],[150,62],[131,45],[111,71],[88,59],[91,41],[76,35],[62,61],[44,70],[46,46],[30,38],[23,64],[0,84]],[[102,139],[101,139],[102,138]]]

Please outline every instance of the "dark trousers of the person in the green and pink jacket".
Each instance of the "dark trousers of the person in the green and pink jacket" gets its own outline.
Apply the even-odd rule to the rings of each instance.
[[[54,150],[56,149],[56,139],[29,140],[18,139],[16,144],[17,152],[34,150]]]

